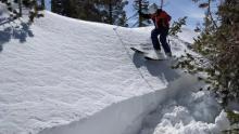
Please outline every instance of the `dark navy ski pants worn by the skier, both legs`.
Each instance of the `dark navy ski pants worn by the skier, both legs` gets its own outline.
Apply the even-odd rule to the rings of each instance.
[[[151,31],[151,39],[152,39],[154,50],[161,50],[160,42],[158,39],[159,35],[160,35],[160,42],[163,46],[164,52],[171,53],[171,48],[166,40],[167,35],[168,35],[168,28],[155,28]]]

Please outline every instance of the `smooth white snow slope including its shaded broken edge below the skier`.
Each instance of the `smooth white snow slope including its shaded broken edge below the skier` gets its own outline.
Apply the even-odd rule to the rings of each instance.
[[[149,44],[149,27],[113,30],[47,11],[32,27],[16,24],[0,26],[0,134],[134,134],[159,104],[198,86],[171,62],[129,50]],[[172,40],[184,54],[184,40]]]

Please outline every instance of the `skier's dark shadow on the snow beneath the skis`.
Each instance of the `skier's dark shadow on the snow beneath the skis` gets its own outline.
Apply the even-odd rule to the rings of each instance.
[[[167,82],[174,81],[180,77],[177,70],[172,69],[172,63],[169,61],[147,61],[142,54],[135,53],[133,63],[137,68],[144,66],[150,75],[161,80],[162,78],[166,79]]]

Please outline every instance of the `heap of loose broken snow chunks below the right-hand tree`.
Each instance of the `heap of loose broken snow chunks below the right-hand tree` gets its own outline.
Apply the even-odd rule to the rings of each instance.
[[[219,110],[207,91],[181,93],[148,116],[140,134],[218,134],[229,128],[226,112]]]

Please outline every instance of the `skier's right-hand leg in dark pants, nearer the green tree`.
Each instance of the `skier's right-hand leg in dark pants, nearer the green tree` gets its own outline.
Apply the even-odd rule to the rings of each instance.
[[[160,35],[160,42],[162,43],[162,46],[164,49],[164,52],[166,54],[172,54],[171,52],[171,46],[169,44],[167,43],[167,34],[168,34],[168,30],[167,29],[163,29],[161,35]]]

